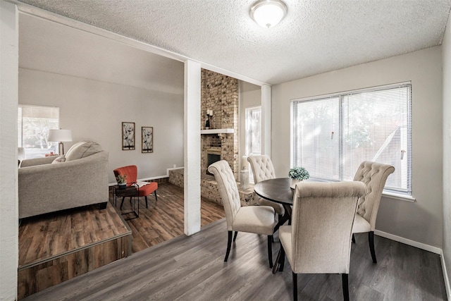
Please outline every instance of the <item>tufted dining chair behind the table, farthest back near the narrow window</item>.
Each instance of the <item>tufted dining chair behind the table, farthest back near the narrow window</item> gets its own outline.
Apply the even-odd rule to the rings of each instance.
[[[251,164],[252,175],[254,176],[254,183],[257,184],[262,180],[268,180],[276,178],[276,173],[274,173],[274,166],[271,158],[266,155],[256,155],[256,156],[248,156],[247,161]],[[268,199],[264,199],[263,197],[259,197],[256,195],[256,202],[260,206],[271,206],[276,211],[276,214],[279,216],[279,221],[283,214],[285,214],[285,209],[283,209],[282,204],[278,204],[276,202],[271,202]]]

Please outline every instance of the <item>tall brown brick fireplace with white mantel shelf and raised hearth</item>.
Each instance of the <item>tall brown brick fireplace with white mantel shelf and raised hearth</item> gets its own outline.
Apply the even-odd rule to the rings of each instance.
[[[238,179],[238,80],[202,69],[201,87],[201,195],[222,204],[214,176],[207,173],[210,160],[226,160]],[[207,116],[207,112],[212,116]],[[209,120],[209,131],[205,131]],[[225,130],[228,129],[228,130]],[[230,133],[217,133],[217,132]],[[183,187],[183,168],[169,171],[169,182]],[[240,187],[240,186],[238,186]],[[254,204],[254,186],[239,189],[242,206]]]

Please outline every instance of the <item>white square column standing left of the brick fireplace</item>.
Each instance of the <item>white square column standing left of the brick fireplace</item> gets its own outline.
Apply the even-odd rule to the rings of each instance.
[[[185,234],[200,231],[200,63],[185,61]]]

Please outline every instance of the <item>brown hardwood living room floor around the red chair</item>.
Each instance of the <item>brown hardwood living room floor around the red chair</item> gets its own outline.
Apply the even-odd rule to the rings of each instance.
[[[176,238],[183,234],[185,224],[183,222],[183,188],[171,183],[159,183],[156,190],[158,201],[154,195],[147,197],[148,209],[144,197],[140,198],[140,217],[127,221],[132,230],[132,252],[157,245],[166,240]],[[215,202],[201,199],[201,226],[222,219],[226,216],[221,205]],[[121,199],[117,199],[116,208],[121,211]],[[123,212],[130,211],[131,204],[126,198],[123,204]]]

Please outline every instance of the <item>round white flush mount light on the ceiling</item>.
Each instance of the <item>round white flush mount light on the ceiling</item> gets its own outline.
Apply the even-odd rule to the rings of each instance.
[[[273,27],[287,14],[287,6],[281,0],[259,0],[251,7],[251,18],[261,27]]]

